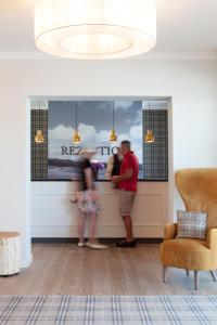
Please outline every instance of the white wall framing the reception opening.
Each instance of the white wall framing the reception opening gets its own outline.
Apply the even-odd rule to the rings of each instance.
[[[217,165],[216,81],[216,61],[0,61],[0,229],[21,231],[23,264],[30,260],[27,96],[173,96],[176,170]],[[175,195],[175,209],[179,204]]]

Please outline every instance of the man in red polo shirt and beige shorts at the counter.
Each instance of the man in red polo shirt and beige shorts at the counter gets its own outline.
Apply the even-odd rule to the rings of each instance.
[[[122,142],[120,152],[124,156],[124,160],[120,166],[120,173],[119,176],[112,177],[111,181],[115,184],[119,184],[119,212],[125,224],[126,239],[118,242],[116,246],[136,247],[130,213],[137,192],[139,162],[133,152],[131,152],[131,143],[128,140]]]

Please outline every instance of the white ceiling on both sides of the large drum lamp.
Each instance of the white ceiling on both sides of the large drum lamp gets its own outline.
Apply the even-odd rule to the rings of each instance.
[[[154,51],[217,51],[217,0],[156,0]],[[0,52],[35,52],[34,0],[0,0]]]

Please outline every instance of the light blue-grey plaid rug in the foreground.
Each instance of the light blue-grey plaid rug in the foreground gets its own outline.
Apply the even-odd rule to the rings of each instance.
[[[0,296],[0,324],[217,324],[216,296]]]

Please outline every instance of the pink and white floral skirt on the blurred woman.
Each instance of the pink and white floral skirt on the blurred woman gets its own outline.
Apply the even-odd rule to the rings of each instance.
[[[78,209],[82,213],[95,213],[99,208],[99,194],[97,191],[87,190],[77,192]]]

